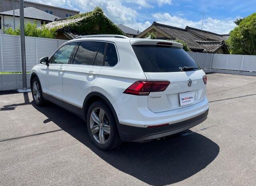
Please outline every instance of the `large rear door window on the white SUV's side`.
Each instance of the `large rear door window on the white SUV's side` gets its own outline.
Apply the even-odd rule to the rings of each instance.
[[[101,42],[81,42],[73,63],[79,65],[93,65],[100,45]]]

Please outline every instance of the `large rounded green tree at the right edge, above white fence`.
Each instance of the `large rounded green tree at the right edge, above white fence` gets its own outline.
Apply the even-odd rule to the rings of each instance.
[[[256,55],[256,13],[244,18],[226,41],[232,54]]]

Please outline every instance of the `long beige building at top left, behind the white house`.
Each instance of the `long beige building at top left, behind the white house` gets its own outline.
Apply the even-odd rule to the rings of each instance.
[[[79,11],[76,11],[76,10],[70,10],[67,8],[60,8],[57,6],[51,6],[48,4],[42,4],[38,2],[31,2],[31,1],[24,0],[24,8],[27,8],[27,7],[34,7],[38,10],[42,10],[43,12],[52,14],[59,18],[74,16],[76,14],[79,14]],[[19,0],[14,0],[14,8],[13,8],[12,0],[0,0],[0,12],[6,12],[9,10],[13,10],[13,9],[15,10],[19,8],[20,8]]]

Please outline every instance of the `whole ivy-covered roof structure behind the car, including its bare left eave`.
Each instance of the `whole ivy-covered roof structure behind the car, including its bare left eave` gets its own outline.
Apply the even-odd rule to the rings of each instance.
[[[96,7],[92,12],[77,14],[68,18],[60,18],[45,25],[45,28],[56,29],[56,39],[72,40],[77,36],[92,34],[125,35],[102,10]]]

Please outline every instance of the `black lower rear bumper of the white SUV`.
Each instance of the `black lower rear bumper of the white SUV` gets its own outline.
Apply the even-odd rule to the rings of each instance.
[[[201,115],[198,115],[194,118],[181,121],[178,123],[173,123],[170,125],[162,126],[162,127],[154,127],[154,128],[143,128],[143,127],[133,127],[129,125],[120,124],[118,126],[118,131],[121,140],[123,141],[146,141],[152,140],[160,137],[165,137],[169,135],[173,135],[175,133],[179,133],[181,131],[185,131],[190,129],[207,119],[208,110]]]

